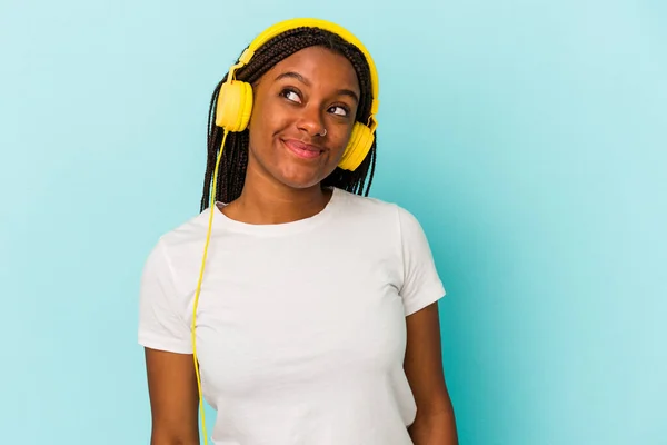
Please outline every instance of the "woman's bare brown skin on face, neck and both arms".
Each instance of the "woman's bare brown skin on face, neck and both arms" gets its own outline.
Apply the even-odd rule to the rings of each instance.
[[[338,165],[352,130],[360,96],[355,70],[342,56],[311,47],[277,63],[253,86],[253,92],[243,191],[221,211],[248,224],[311,217],[331,197],[320,181]],[[289,148],[295,140],[319,155],[299,156]],[[417,403],[410,437],[415,445],[458,444],[442,370],[437,304],[408,316],[406,323],[404,367]],[[199,397],[192,356],[146,349],[146,363],[151,445],[198,445]]]

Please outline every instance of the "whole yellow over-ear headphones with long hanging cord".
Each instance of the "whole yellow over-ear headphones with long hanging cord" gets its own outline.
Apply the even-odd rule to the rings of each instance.
[[[191,324],[191,336],[192,336],[192,356],[195,359],[195,373],[197,375],[197,387],[199,390],[199,409],[201,413],[201,423],[202,423],[202,433],[203,433],[203,443],[208,444],[207,431],[206,431],[206,416],[203,412],[203,395],[201,392],[201,376],[199,374],[199,363],[197,359],[197,342],[195,335],[196,327],[196,316],[197,316],[197,306],[199,304],[199,295],[201,293],[201,281],[203,279],[203,269],[206,265],[206,258],[208,253],[208,246],[210,241],[211,227],[213,220],[213,206],[216,205],[216,185],[218,182],[218,169],[220,166],[220,160],[222,159],[222,150],[225,148],[225,141],[227,139],[227,135],[229,132],[239,132],[243,131],[248,127],[248,122],[250,120],[250,115],[252,111],[252,87],[248,82],[236,80],[235,73],[236,71],[248,65],[250,59],[255,56],[255,51],[265,44],[267,41],[277,37],[285,31],[296,29],[296,28],[319,28],[325,31],[332,32],[338,34],[340,38],[346,40],[348,43],[354,44],[361,51],[368,67],[370,69],[370,83],[371,83],[371,95],[372,95],[372,103],[370,106],[370,116],[368,117],[368,123],[364,125],[361,122],[355,122],[352,134],[348,141],[348,145],[344,151],[342,158],[338,164],[338,167],[345,170],[356,170],[357,167],[364,161],[368,151],[372,147],[372,142],[375,139],[375,130],[377,128],[377,121],[375,116],[378,112],[379,101],[378,101],[378,92],[379,92],[379,83],[378,83],[378,73],[376,70],[375,62],[370,57],[368,50],[364,47],[364,44],[350,33],[348,30],[342,27],[331,23],[326,20],[320,19],[290,19],[285,20],[279,23],[269,27],[262,33],[260,33],[252,42],[246,48],[239,58],[238,63],[233,65],[229,69],[229,73],[227,76],[227,80],[220,87],[220,92],[218,96],[218,103],[216,107],[216,125],[221,127],[225,130],[225,135],[222,137],[222,144],[220,150],[218,152],[218,159],[216,160],[216,168],[213,172],[213,178],[211,181],[211,192],[210,192],[210,202],[209,202],[209,225],[208,231],[206,236],[206,244],[203,248],[203,257],[201,260],[201,269],[199,273],[199,283],[197,284],[197,290],[195,293],[195,303],[192,307],[192,324]]]

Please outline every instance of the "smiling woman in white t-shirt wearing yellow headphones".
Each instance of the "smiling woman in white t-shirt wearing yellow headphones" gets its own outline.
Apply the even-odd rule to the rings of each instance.
[[[141,281],[152,445],[198,444],[202,397],[217,445],[457,443],[428,241],[367,197],[376,111],[366,49],[312,19],[217,86],[201,212]]]

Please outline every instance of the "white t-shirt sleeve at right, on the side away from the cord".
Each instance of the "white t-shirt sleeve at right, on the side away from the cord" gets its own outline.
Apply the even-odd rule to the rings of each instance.
[[[398,220],[404,271],[399,294],[408,316],[439,300],[446,293],[421,225],[401,207],[398,207]]]

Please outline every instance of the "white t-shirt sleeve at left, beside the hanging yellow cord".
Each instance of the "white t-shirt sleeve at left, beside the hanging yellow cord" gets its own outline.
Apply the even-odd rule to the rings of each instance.
[[[139,290],[139,344],[152,349],[191,354],[190,328],[179,310],[169,258],[162,241],[143,266]]]

